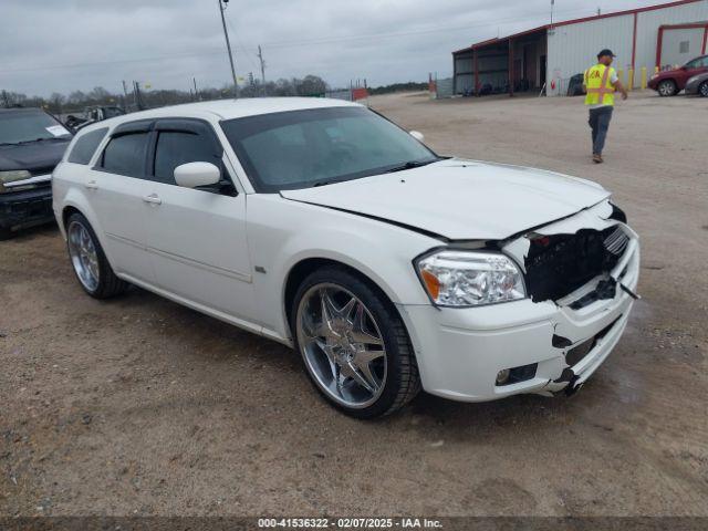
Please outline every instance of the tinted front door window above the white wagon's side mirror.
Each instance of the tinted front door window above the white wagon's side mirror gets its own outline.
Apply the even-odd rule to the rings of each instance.
[[[162,131],[155,150],[155,180],[175,184],[175,168],[187,163],[211,163],[221,167],[221,154],[215,153],[214,142],[189,132]]]

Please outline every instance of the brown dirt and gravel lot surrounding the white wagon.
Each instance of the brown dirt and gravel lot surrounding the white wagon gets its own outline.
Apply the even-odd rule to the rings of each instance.
[[[440,154],[615,191],[644,300],[576,397],[419,396],[362,423],[296,355],[135,290],[85,296],[55,228],[0,243],[0,514],[708,516],[708,101],[373,98]]]

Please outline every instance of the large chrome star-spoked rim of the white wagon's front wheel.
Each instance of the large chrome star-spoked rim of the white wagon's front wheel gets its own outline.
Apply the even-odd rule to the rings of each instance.
[[[327,396],[351,408],[378,399],[386,382],[386,348],[361,300],[340,285],[316,284],[300,301],[296,326],[308,369]]]

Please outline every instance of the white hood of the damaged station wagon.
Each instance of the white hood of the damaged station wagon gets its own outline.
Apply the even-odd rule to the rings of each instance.
[[[503,240],[610,197],[600,185],[584,179],[460,159],[281,195],[450,240]]]

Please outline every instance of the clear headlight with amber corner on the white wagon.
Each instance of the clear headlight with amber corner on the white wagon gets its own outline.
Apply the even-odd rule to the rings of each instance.
[[[501,253],[438,251],[415,266],[425,290],[439,306],[481,306],[527,296],[521,271]]]

